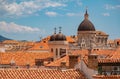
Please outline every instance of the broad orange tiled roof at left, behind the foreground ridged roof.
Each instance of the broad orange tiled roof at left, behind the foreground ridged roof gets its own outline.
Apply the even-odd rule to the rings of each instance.
[[[11,61],[15,61],[16,65],[35,65],[35,59],[46,59],[52,58],[53,53],[35,53],[35,52],[11,52],[11,53],[0,53],[0,64],[10,64]]]

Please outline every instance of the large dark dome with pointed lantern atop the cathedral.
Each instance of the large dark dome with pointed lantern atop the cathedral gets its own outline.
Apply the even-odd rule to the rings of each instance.
[[[81,22],[81,24],[78,27],[78,31],[95,31],[94,25],[88,19],[87,10],[86,10],[86,13],[84,15],[84,20]]]

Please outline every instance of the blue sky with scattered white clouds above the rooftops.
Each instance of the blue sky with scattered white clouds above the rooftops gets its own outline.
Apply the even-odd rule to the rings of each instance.
[[[96,30],[120,38],[120,0],[0,0],[0,35],[15,40],[39,40],[62,27],[76,35],[88,7]]]

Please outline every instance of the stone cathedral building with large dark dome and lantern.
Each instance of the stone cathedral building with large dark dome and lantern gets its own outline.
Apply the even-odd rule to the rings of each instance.
[[[102,31],[96,31],[93,23],[89,20],[86,10],[84,20],[80,23],[77,30],[77,43],[81,49],[104,48],[107,46],[108,34]]]

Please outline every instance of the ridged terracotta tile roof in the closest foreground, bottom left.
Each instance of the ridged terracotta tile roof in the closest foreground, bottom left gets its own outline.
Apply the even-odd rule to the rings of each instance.
[[[2,69],[0,79],[86,79],[79,70]]]

